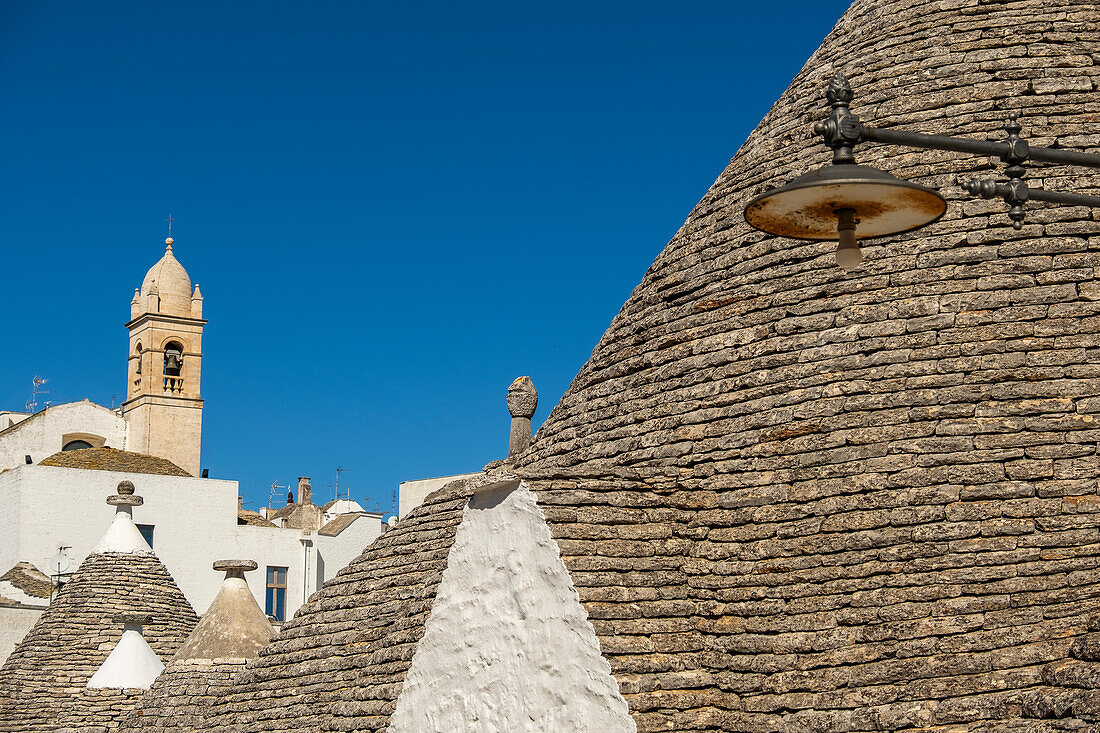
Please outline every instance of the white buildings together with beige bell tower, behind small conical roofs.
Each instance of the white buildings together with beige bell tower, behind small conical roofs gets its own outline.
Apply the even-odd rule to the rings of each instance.
[[[284,621],[382,534],[382,515],[353,502],[322,511],[309,501],[307,483],[298,513],[317,521],[278,526],[239,511],[235,481],[197,478],[206,320],[198,286],[175,259],[170,238],[166,244],[131,303],[129,352],[120,353],[122,408],[84,400],[0,413],[0,576],[19,562],[58,575],[59,553],[68,565],[62,570],[75,571],[111,522],[103,496],[127,480],[144,497],[134,522],[197,612],[221,586],[211,564],[241,558],[260,565],[248,576],[256,602]],[[0,661],[41,613],[2,590]]]

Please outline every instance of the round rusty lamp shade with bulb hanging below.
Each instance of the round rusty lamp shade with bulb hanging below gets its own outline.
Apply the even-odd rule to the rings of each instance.
[[[826,165],[757,196],[745,220],[769,234],[836,241],[837,264],[859,264],[858,239],[886,237],[937,221],[947,201],[936,192],[867,165]]]

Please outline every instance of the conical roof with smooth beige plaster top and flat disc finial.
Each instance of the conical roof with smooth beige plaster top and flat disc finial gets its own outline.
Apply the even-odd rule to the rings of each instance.
[[[232,676],[256,656],[275,633],[244,580],[253,561],[215,562],[227,570],[218,595],[167,668],[122,725],[130,731],[200,730]]]

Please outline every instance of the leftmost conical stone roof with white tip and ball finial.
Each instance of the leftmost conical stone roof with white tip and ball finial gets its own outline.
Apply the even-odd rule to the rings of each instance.
[[[121,499],[140,501],[129,491],[120,484]],[[129,518],[129,506],[119,508],[109,536],[124,538],[118,522]],[[123,615],[147,616],[143,635],[161,659],[172,657],[198,622],[147,545],[94,551],[0,668],[0,731],[87,731],[132,710],[143,690],[87,689],[122,638]]]

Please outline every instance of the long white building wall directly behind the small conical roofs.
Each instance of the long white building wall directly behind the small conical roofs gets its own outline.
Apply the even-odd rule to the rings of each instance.
[[[266,566],[286,567],[289,619],[302,598],[319,588],[316,557],[310,558],[304,587],[301,537],[316,543],[311,555],[320,551],[328,579],[382,533],[377,515],[360,517],[337,537],[238,525],[235,481],[20,466],[0,473],[0,506],[9,507],[0,512],[0,528],[9,529],[0,533],[0,573],[25,560],[48,575],[47,561],[61,545],[72,547],[66,550],[73,560],[69,570],[76,570],[110,526],[114,507],[106,500],[123,479],[145,500],[134,507],[134,522],[154,525],[153,550],[198,613],[221,586],[223,573],[210,567],[215,560],[240,558],[260,565],[245,577],[261,608]]]

